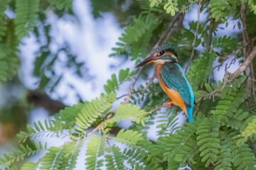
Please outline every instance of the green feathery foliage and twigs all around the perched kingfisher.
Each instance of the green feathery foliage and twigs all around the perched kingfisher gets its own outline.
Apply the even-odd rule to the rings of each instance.
[[[182,123],[183,112],[176,106],[160,111],[169,98],[159,84],[154,83],[154,77],[149,78],[152,69],[120,69],[118,75],[112,74],[103,86],[105,94],[92,101],[79,98],[80,103],[65,107],[52,118],[27,125],[26,130],[17,135],[18,147],[0,158],[1,169],[76,169],[80,150],[85,150],[83,163],[86,169],[171,170],[185,169],[186,166],[198,170],[256,169],[255,60],[248,67],[250,72],[246,70],[238,77],[228,69],[234,63],[238,65],[247,60],[245,53],[255,46],[255,1],[200,1],[201,16],[205,15],[206,19],[190,21],[186,16],[191,15],[191,9],[195,9],[198,2],[107,1],[103,3],[106,3],[104,7],[101,1],[91,1],[95,18],[112,12],[120,26],[126,26],[110,57],[138,64],[151,54],[156,42],[157,45],[169,42],[176,47],[178,64],[181,67],[188,65],[186,76],[196,96],[192,124]],[[57,52],[50,49],[53,37],[45,11],[53,11],[59,17],[72,16],[72,5],[72,0],[1,2],[2,84],[8,86],[6,81],[15,77],[21,55],[18,46],[29,35],[35,35],[41,45],[33,69],[33,76],[38,78],[38,89],[49,94],[55,92],[63,79],[54,68],[62,52],[68,59],[64,62],[66,67],[75,69],[75,75],[80,78],[85,76],[82,70],[85,63],[78,62],[68,43],[64,42]],[[246,7],[247,22],[240,16],[241,5]],[[6,10],[15,13],[16,18],[6,16]],[[247,24],[246,30],[240,29],[241,23]],[[229,24],[239,30],[232,30]],[[232,30],[234,35],[221,35],[221,30]],[[213,67],[213,64],[218,65]],[[213,73],[224,67],[225,76],[222,81],[216,81]],[[147,81],[146,85],[144,81]],[[117,98],[117,94],[123,84],[130,85],[133,90],[129,88],[122,103],[122,96]],[[120,130],[116,126],[123,120],[131,121],[132,125]],[[152,127],[157,129],[154,140],[149,136]],[[43,146],[42,142],[31,142],[40,141],[42,137],[65,137],[68,142],[50,147]],[[42,152],[42,157],[36,162],[24,161],[38,152]]]

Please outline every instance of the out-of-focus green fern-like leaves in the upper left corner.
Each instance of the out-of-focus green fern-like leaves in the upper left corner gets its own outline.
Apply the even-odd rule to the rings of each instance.
[[[12,79],[17,74],[19,60],[16,52],[19,52],[18,45],[24,37],[28,37],[30,33],[35,32],[36,23],[42,20],[45,15],[45,7],[55,8],[55,12],[68,11],[72,9],[72,0],[55,0],[48,1],[45,4],[39,0],[4,0],[0,4],[0,83]],[[41,8],[43,5],[44,8]],[[46,7],[47,8],[47,7]],[[5,11],[14,12],[16,18],[11,19],[6,15]],[[42,21],[44,22],[44,21]],[[47,26],[46,26],[47,27]],[[48,34],[49,30],[46,30]],[[45,48],[44,48],[45,49]],[[44,74],[43,74],[44,75]],[[45,75],[44,75],[45,76]],[[48,82],[45,82],[48,81]],[[59,80],[60,81],[60,80]],[[44,84],[48,84],[50,79],[45,76]],[[41,84],[42,84],[41,83]],[[58,81],[55,81],[55,85]]]

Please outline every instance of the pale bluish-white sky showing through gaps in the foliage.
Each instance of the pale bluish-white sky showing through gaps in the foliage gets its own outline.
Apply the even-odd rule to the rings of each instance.
[[[196,7],[196,6],[195,6]],[[103,18],[98,18],[95,20],[91,13],[90,1],[74,0],[73,10],[75,15],[78,17],[79,22],[75,21],[74,18],[65,16],[59,19],[54,13],[48,13],[48,23],[52,25],[51,35],[54,35],[54,42],[51,44],[50,49],[55,52],[59,44],[63,42],[68,42],[71,51],[74,55],[77,55],[77,60],[79,62],[86,62],[87,67],[89,67],[89,74],[95,77],[92,81],[87,82],[85,79],[80,79],[80,77],[74,76],[70,69],[63,69],[61,62],[54,65],[57,74],[63,74],[63,80],[56,88],[55,94],[50,94],[53,99],[63,98],[63,103],[68,106],[73,106],[73,104],[78,103],[78,97],[75,91],[79,91],[82,100],[91,101],[93,98],[100,96],[104,92],[103,84],[110,79],[111,74],[117,74],[119,69],[134,69],[134,62],[123,62],[122,59],[117,59],[114,57],[108,57],[112,53],[112,47],[115,47],[115,43],[118,41],[119,36],[124,33],[123,28],[119,28],[116,19],[112,13],[102,13]],[[197,8],[192,8],[190,15],[185,16],[184,27],[188,28],[188,22],[197,21]],[[201,13],[201,21],[206,20],[206,15]],[[235,24],[236,21],[230,21]],[[237,28],[233,30],[233,24],[228,26],[227,30],[220,30],[220,35],[226,34],[233,36],[234,32],[239,31]],[[223,25],[223,27],[225,27]],[[33,77],[33,62],[35,61],[34,52],[39,48],[36,44],[36,38],[31,34],[30,38],[23,38],[23,45],[20,45],[21,49],[21,72],[19,72],[19,77],[21,77],[23,84],[28,89],[37,89],[38,85],[36,82],[38,79]],[[197,48],[201,50],[202,47]],[[61,61],[67,60],[67,57],[60,56]],[[232,59],[230,59],[232,60]],[[216,60],[217,61],[217,60]],[[214,66],[218,62],[214,62]],[[227,61],[229,62],[229,60]],[[225,63],[223,64],[225,65]],[[238,68],[238,62],[230,67],[228,71],[234,72]],[[152,73],[153,74],[153,73]],[[223,67],[220,71],[214,70],[213,75],[215,80],[220,80],[223,78]],[[139,81],[140,84],[142,81]],[[155,80],[157,82],[157,80]],[[146,82],[143,82],[145,84]],[[70,89],[68,84],[72,84],[75,87],[75,91]],[[127,83],[122,86],[117,96],[122,94],[127,94],[129,86],[131,83]],[[118,103],[117,103],[118,104]],[[164,109],[164,108],[163,108]],[[163,110],[164,111],[164,110]],[[40,114],[38,114],[40,113]],[[184,115],[179,114],[181,117],[181,123],[185,121]],[[44,120],[48,118],[48,113],[42,108],[37,108],[31,112],[31,118],[29,124],[38,120]],[[129,121],[122,122],[120,125],[123,128],[128,128]],[[156,124],[157,125],[157,124]],[[156,140],[156,128],[151,128],[151,134],[149,137]],[[48,138],[43,138],[48,142],[48,145],[60,146],[63,142],[68,141],[68,138],[63,140],[48,140]],[[82,149],[81,156],[78,159],[77,169],[85,169],[84,161],[85,159],[85,145]],[[42,154],[36,155],[36,157],[31,157],[31,161],[35,161]],[[79,161],[81,160],[81,161]]]

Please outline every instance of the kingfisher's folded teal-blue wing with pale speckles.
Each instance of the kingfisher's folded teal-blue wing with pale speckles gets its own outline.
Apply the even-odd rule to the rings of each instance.
[[[188,108],[193,107],[194,96],[191,85],[181,67],[176,63],[166,62],[161,69],[161,79],[164,84],[181,95]]]

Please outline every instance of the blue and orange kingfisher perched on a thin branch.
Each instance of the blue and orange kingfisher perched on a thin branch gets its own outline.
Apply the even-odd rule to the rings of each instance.
[[[137,68],[151,62],[156,63],[156,75],[159,84],[171,98],[171,101],[167,102],[166,106],[168,108],[171,107],[171,104],[179,106],[188,117],[189,123],[193,123],[192,113],[195,97],[191,84],[178,64],[178,55],[174,47],[169,44],[163,44],[154,48],[146,60],[137,64]]]

